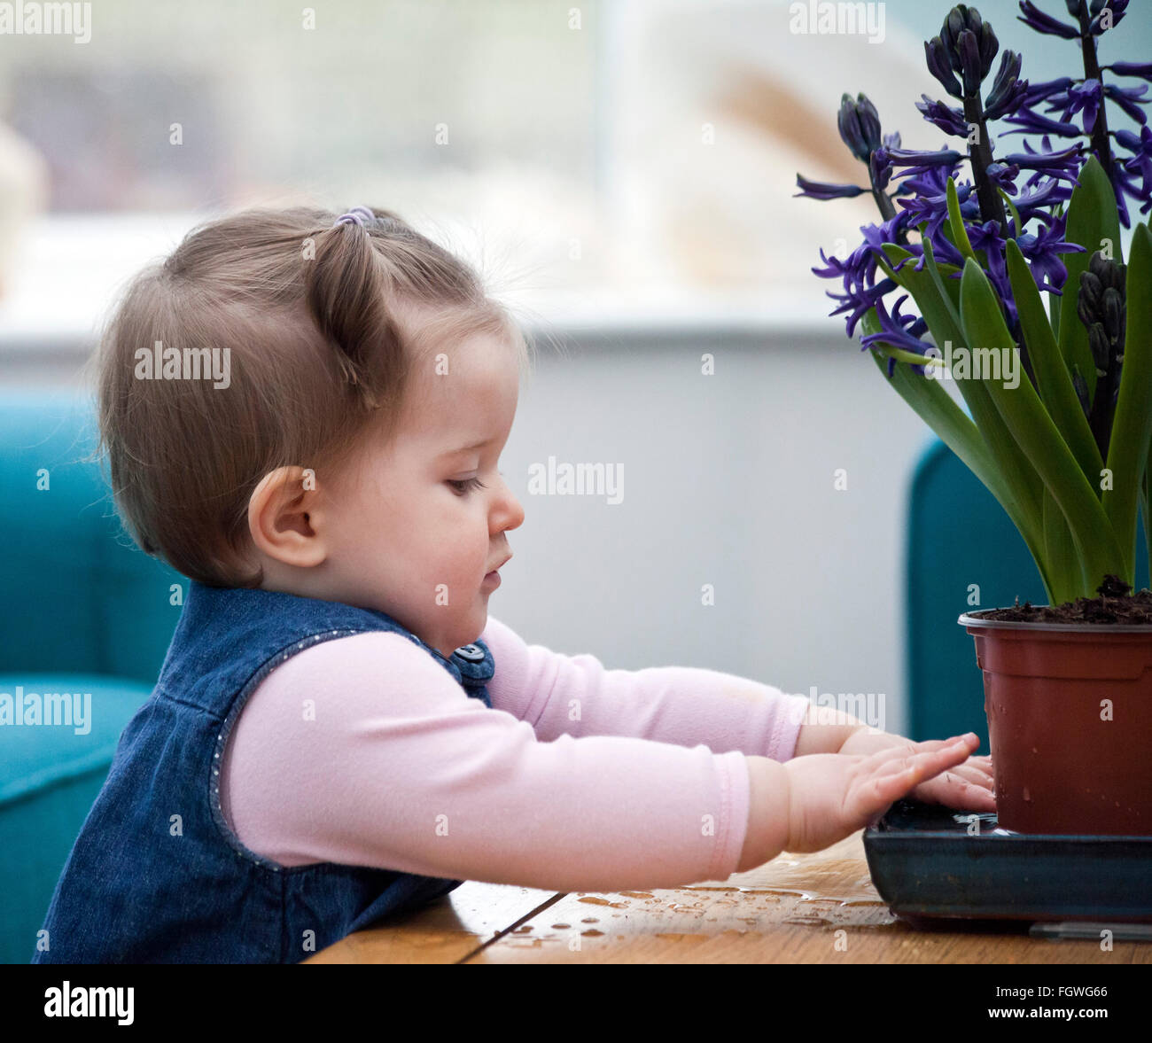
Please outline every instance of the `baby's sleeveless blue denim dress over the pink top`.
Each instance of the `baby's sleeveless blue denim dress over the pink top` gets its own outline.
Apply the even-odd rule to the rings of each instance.
[[[283,867],[220,810],[245,701],[321,641],[380,630],[424,649],[491,708],[484,642],[445,658],[384,612],[192,582],[156,688],[120,736],[48,906],[37,963],[295,963],[462,880],[334,862]],[[340,765],[333,765],[340,771]],[[40,938],[43,939],[43,932]]]

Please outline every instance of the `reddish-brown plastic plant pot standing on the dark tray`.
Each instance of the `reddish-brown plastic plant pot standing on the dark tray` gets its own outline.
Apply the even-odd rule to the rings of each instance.
[[[982,615],[957,622],[984,673],[1000,825],[1152,836],[1152,626]]]

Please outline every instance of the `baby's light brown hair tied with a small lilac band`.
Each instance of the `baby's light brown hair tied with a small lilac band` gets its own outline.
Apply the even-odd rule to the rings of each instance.
[[[146,553],[209,585],[258,587],[248,501],[266,474],[338,468],[369,434],[387,443],[416,368],[463,338],[503,339],[523,369],[523,334],[476,270],[372,213],[207,221],[124,289],[96,360],[99,448]],[[202,362],[200,378],[142,379],[157,342],[157,358]],[[213,349],[228,349],[214,356],[229,360],[227,386],[209,376]]]

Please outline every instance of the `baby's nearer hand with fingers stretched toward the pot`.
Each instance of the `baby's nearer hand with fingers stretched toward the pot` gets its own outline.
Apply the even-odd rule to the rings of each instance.
[[[783,763],[788,772],[791,852],[823,851],[878,819],[894,802],[968,761],[980,740],[908,742],[874,754],[810,754]]]

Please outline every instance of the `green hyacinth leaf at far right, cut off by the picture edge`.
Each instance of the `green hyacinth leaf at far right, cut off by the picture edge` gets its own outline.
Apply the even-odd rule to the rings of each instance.
[[[1112,489],[1104,509],[1124,552],[1124,576],[1135,585],[1136,514],[1152,439],[1152,233],[1137,225],[1124,287],[1128,309],[1120,395],[1108,441]]]

